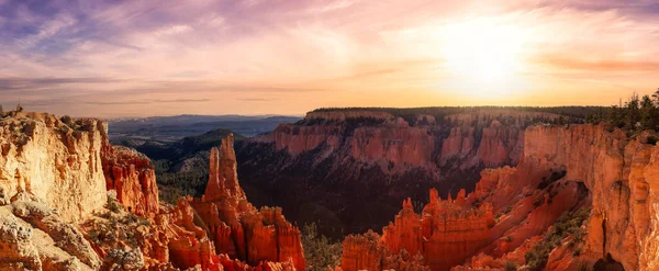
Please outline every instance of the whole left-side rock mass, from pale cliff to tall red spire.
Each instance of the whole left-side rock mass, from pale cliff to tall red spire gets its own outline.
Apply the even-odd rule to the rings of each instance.
[[[233,136],[206,195],[170,207],[149,159],[111,146],[102,121],[1,115],[0,270],[304,269],[300,230],[247,202]]]

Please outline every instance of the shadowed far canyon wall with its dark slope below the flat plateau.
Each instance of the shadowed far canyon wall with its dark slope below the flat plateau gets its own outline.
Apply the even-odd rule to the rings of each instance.
[[[524,129],[559,115],[512,109],[321,110],[237,146],[238,171],[257,205],[340,238],[387,224],[398,203],[429,189],[476,188],[482,169],[515,166]],[[356,219],[359,217],[359,219]]]

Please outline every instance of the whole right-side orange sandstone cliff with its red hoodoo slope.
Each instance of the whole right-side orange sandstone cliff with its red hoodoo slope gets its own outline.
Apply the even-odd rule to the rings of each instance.
[[[431,270],[656,270],[651,137],[594,125],[529,127],[515,168],[483,170],[476,190],[456,200],[432,191],[421,214],[405,201],[381,237],[346,238],[342,269],[384,270],[382,258],[404,250]],[[585,219],[570,218],[577,213]]]

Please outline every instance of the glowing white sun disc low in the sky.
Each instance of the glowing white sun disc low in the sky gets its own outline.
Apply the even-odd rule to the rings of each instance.
[[[517,89],[524,69],[526,35],[517,26],[487,20],[450,24],[443,31],[445,68],[457,84],[474,94],[510,94]]]

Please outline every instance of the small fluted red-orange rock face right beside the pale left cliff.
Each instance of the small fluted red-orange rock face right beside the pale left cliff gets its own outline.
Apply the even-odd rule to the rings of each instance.
[[[101,159],[107,189],[116,191],[119,202],[142,216],[158,213],[156,173],[146,156],[131,148],[107,144]]]

